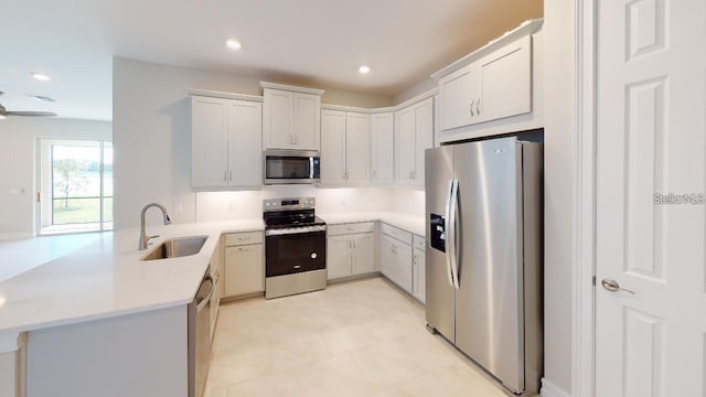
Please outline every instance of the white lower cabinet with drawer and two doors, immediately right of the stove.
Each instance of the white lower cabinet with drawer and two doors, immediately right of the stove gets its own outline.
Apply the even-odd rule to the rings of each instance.
[[[349,233],[351,230],[366,233],[340,234],[346,229]],[[373,223],[329,227],[327,253],[329,280],[377,271],[373,230]]]

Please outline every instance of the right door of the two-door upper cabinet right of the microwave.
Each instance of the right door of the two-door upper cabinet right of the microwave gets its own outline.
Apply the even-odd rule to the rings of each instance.
[[[346,183],[364,186],[371,174],[371,116],[349,112],[345,120]]]

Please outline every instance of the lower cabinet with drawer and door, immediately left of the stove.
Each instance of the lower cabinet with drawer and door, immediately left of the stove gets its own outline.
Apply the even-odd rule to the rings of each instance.
[[[237,244],[236,242],[254,244]],[[223,297],[237,297],[265,291],[263,233],[231,234],[225,237]]]

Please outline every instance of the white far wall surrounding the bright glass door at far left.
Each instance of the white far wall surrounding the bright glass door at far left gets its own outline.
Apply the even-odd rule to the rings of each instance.
[[[111,129],[109,121],[26,117],[0,120],[0,239],[34,234],[38,138],[110,140]]]

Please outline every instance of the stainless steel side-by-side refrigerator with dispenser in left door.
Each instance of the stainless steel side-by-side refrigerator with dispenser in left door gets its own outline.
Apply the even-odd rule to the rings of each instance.
[[[426,151],[426,316],[512,393],[538,393],[542,143],[516,137]]]

